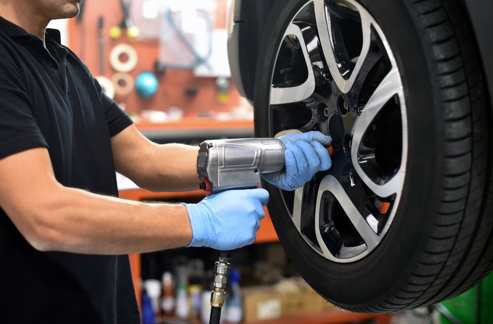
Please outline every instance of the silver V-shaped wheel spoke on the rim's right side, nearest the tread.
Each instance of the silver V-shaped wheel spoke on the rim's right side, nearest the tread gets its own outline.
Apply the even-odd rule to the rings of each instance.
[[[380,197],[388,197],[392,194],[398,193],[401,190],[404,181],[404,167],[401,165],[397,174],[395,174],[385,184],[376,184],[362,170],[360,163],[364,163],[365,159],[364,157],[361,158],[361,156],[358,156],[358,150],[361,140],[374,118],[378,115],[387,101],[396,94],[400,97],[402,96],[402,84],[399,77],[399,71],[397,68],[393,68],[372,94],[352,128],[351,159],[354,169],[368,188]],[[403,132],[405,131],[406,130],[403,129]]]

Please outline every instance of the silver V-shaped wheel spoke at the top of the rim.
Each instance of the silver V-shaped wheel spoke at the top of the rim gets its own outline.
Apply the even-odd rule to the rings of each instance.
[[[361,52],[357,58],[357,61],[352,68],[352,70],[348,70],[347,72],[341,73],[341,63],[338,62],[337,52],[340,50],[337,49],[339,46],[343,46],[339,42],[336,44],[335,40],[337,37],[337,31],[334,31],[334,27],[332,26],[331,14],[325,5],[324,0],[314,0],[315,5],[315,19],[317,22],[317,30],[318,36],[320,39],[320,44],[322,46],[323,55],[325,58],[325,62],[328,65],[330,74],[334,78],[334,82],[342,93],[348,93],[356,76],[363,65],[363,62],[368,54],[368,50],[370,48],[370,26],[371,26],[371,17],[368,15],[366,10],[359,5],[357,2],[348,0],[359,13],[361,19],[361,29],[363,36],[363,45],[361,47]],[[344,69],[343,69],[344,70]],[[350,74],[349,76],[347,74]]]

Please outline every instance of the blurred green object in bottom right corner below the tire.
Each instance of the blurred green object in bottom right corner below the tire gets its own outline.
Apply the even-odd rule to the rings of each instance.
[[[444,301],[442,305],[462,324],[492,323],[493,273],[487,276],[477,286],[457,297]],[[479,321],[477,321],[478,315]],[[454,323],[449,321],[444,315],[441,315],[441,324]]]

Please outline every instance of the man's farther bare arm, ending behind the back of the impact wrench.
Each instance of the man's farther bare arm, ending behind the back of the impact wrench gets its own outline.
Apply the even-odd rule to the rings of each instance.
[[[199,189],[198,147],[156,144],[134,125],[111,138],[116,170],[151,191],[180,192]]]

